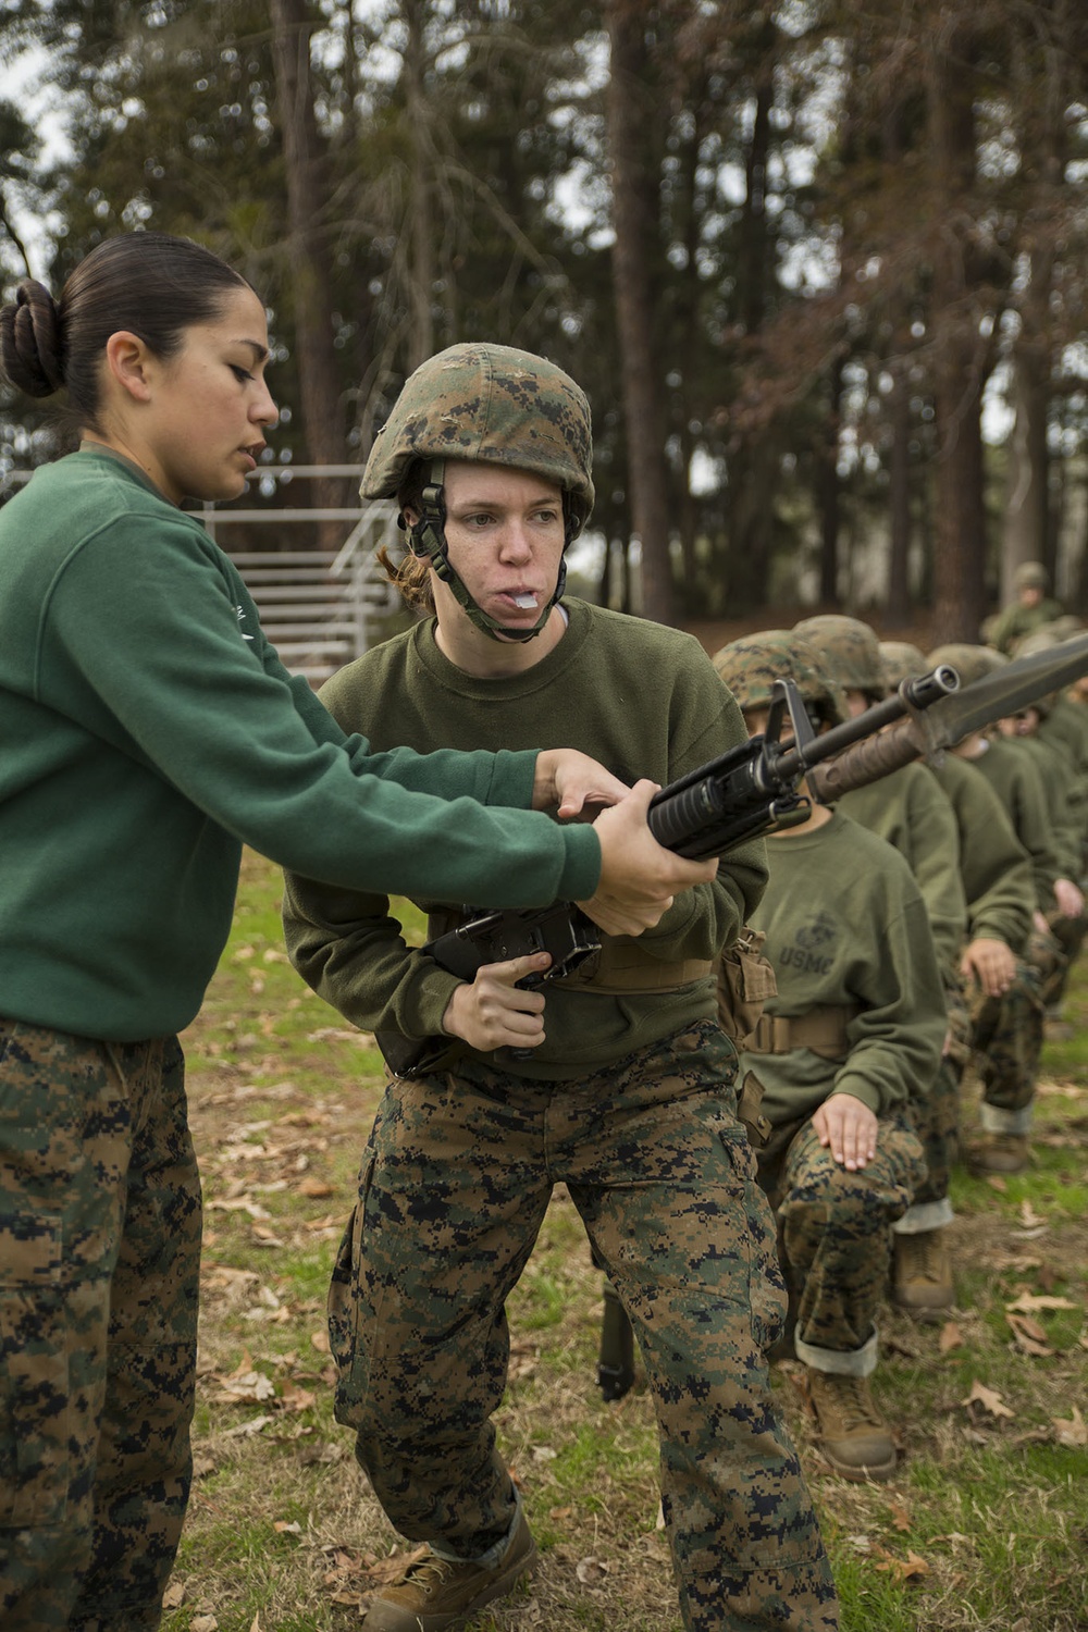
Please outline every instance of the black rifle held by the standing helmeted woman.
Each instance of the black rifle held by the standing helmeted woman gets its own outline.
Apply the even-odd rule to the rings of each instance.
[[[904,681],[892,697],[816,736],[794,682],[775,681],[767,730],[661,788],[649,805],[649,831],[667,850],[700,860],[728,855],[750,839],[807,821],[811,800],[798,788],[814,765],[904,715],[923,715],[958,689],[956,671],[941,666],[915,681]],[[789,744],[781,741],[786,720],[793,730]],[[463,924],[422,947],[439,968],[463,981],[471,981],[488,963],[548,951],[551,965],[542,974],[529,974],[517,982],[525,991],[535,991],[573,974],[587,958],[600,953],[597,927],[571,901],[540,909],[463,911]],[[398,1031],[378,1031],[375,1040],[390,1069],[401,1077],[439,1069],[462,1053],[462,1046],[450,1038],[419,1041]],[[509,1058],[525,1058],[527,1053],[532,1051],[511,1049]]]

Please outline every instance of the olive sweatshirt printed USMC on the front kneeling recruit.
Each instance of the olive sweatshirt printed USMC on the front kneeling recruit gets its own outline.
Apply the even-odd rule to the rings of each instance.
[[[767,935],[778,996],[767,1013],[804,1015],[856,1005],[850,1053],[742,1054],[741,1079],[763,1084],[773,1128],[811,1116],[832,1093],[851,1093],[878,1116],[925,1098],[944,1043],[946,1012],[925,902],[910,868],[884,839],[838,809],[822,827],[767,840],[770,878],[752,916]]]

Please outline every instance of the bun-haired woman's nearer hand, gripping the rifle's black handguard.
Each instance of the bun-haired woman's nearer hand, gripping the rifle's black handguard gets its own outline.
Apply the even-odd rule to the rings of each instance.
[[[718,876],[718,858],[688,862],[657,844],[646,826],[656,782],[636,782],[618,805],[602,811],[594,824],[600,839],[600,880],[589,901],[579,901],[586,917],[608,935],[641,935],[672,906],[680,889],[708,885]]]

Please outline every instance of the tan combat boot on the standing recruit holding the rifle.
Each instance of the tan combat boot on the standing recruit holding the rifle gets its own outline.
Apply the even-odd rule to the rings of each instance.
[[[537,1563],[533,1541],[522,1513],[514,1539],[494,1570],[478,1563],[453,1563],[426,1554],[408,1565],[400,1581],[370,1599],[364,1632],[453,1632],[467,1625],[493,1598],[512,1591]]]

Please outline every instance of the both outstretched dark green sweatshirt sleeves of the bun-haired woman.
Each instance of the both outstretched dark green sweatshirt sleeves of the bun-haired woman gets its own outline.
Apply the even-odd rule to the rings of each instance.
[[[592,894],[592,827],[483,805],[524,796],[532,756],[370,754],[346,739],[245,627],[251,602],[217,557],[181,514],[111,516],[42,609],[41,700],[245,844],[328,883],[496,906]]]

